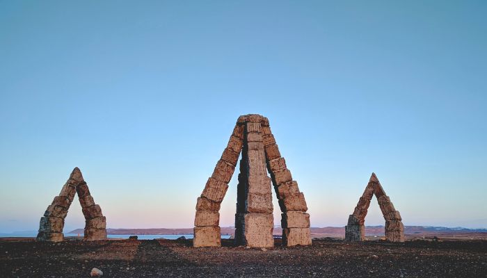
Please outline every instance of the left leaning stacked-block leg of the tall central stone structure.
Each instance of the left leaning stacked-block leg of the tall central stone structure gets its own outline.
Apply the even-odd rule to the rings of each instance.
[[[239,160],[243,137],[244,126],[237,124],[205,189],[198,197],[194,223],[194,247],[221,246],[220,213],[218,211],[220,211],[221,202],[227,193],[228,183],[232,179]]]

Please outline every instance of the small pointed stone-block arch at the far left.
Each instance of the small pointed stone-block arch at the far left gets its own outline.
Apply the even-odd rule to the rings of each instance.
[[[75,167],[70,178],[67,179],[61,189],[61,193],[54,197],[52,203],[47,206],[44,216],[40,218],[38,241],[64,240],[64,219],[76,194],[78,194],[79,203],[86,220],[84,239],[106,239],[106,218],[102,214],[102,208],[95,204],[81,171]]]

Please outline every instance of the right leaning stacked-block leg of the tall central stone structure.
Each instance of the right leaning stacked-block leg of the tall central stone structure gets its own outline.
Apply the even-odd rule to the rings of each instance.
[[[262,126],[266,164],[279,199],[282,244],[286,246],[311,245],[310,215],[298,183],[292,180],[286,161],[280,156],[278,145],[269,126]]]

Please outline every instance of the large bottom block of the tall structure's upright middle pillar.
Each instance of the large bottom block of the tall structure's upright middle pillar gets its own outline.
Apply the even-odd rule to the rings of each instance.
[[[244,234],[247,246],[260,248],[274,246],[272,213],[247,213],[244,218]]]

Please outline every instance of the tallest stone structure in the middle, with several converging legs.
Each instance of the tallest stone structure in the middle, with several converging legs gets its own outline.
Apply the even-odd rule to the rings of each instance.
[[[221,159],[198,197],[193,245],[221,246],[218,211],[240,153],[235,243],[250,247],[274,245],[272,183],[282,212],[283,245],[311,245],[310,215],[306,213],[304,195],[280,155],[269,120],[255,114],[239,117]]]

